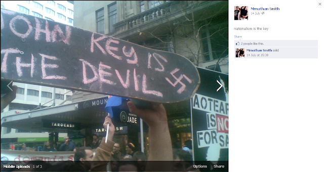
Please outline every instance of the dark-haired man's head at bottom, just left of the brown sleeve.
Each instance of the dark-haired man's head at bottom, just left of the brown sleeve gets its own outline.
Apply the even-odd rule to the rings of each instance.
[[[76,152],[74,153],[74,161],[89,170],[91,168],[90,161],[93,161],[92,149],[90,147],[76,148]]]

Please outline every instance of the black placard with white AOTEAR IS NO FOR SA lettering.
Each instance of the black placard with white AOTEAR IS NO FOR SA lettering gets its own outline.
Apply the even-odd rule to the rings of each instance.
[[[195,161],[228,161],[228,75],[198,68],[201,84],[191,98]],[[220,87],[218,82],[223,87]]]

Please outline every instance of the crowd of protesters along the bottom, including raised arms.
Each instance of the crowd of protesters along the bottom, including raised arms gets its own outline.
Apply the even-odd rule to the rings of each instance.
[[[132,101],[128,102],[131,113],[138,115],[149,127],[149,155],[136,151],[133,143],[126,145],[126,155],[120,152],[120,145],[112,141],[115,127],[107,116],[103,126],[109,134],[107,142],[105,137],[99,140],[97,133],[93,134],[92,147],[75,147],[68,136],[64,137],[64,143],[59,151],[74,151],[74,161],[47,163],[45,161],[29,161],[28,164],[42,164],[42,171],[197,171],[192,164],[191,142],[186,143],[185,148],[176,146],[172,148],[168,127],[167,113],[162,104],[154,104],[152,109],[137,109]],[[107,127],[109,124],[109,127]],[[95,155],[93,152],[95,150]],[[22,151],[26,151],[26,144],[22,145]],[[50,142],[47,142],[43,151],[56,151]],[[166,165],[170,162],[174,165]],[[108,165],[109,164],[109,165]],[[107,165],[110,169],[107,169]],[[33,169],[37,171],[38,169]]]

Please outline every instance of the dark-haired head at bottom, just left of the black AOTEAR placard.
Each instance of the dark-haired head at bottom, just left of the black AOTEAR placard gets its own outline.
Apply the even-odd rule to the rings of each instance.
[[[186,171],[192,165],[190,153],[182,149],[173,149],[173,160],[173,171]]]

